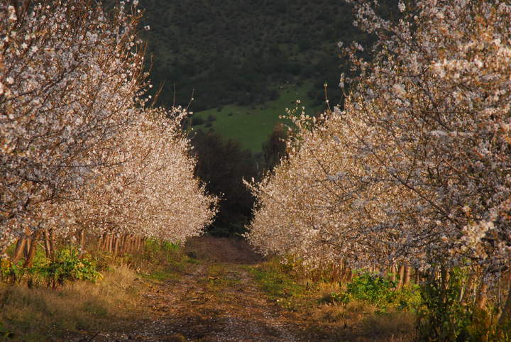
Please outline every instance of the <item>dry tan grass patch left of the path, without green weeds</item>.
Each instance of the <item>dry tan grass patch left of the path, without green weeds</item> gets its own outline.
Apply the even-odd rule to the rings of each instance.
[[[0,286],[0,321],[23,341],[60,341],[72,331],[104,329],[114,318],[133,315],[145,287],[126,267],[105,272],[97,285],[75,282],[60,291]]]

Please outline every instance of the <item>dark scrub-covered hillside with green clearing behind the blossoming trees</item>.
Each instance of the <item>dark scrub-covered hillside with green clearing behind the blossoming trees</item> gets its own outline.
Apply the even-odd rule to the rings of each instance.
[[[380,1],[389,12],[395,0]],[[198,118],[243,147],[260,150],[290,101],[316,110],[329,84],[341,101],[339,75],[348,72],[338,43],[366,41],[353,27],[350,4],[340,0],[141,0],[141,34],[158,104],[188,104]],[[282,92],[287,84],[307,84]],[[281,97],[279,97],[281,96]],[[220,108],[220,111],[217,109]],[[206,127],[210,126],[210,127]]]

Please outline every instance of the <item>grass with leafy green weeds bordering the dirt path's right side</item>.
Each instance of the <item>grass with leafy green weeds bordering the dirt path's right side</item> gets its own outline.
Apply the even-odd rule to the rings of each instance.
[[[275,304],[295,311],[310,341],[411,341],[415,315],[403,301],[419,296],[407,289],[395,295],[388,279],[361,273],[350,285],[313,281],[279,259],[248,267],[253,279]]]

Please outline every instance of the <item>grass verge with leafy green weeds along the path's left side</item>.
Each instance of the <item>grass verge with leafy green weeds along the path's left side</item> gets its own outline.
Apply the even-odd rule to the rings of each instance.
[[[194,263],[179,246],[153,240],[140,253],[116,258],[67,246],[54,260],[38,249],[32,267],[3,259],[0,341],[47,341],[48,336],[66,339],[80,331],[108,330],[141,311],[141,292],[153,282],[177,280]]]

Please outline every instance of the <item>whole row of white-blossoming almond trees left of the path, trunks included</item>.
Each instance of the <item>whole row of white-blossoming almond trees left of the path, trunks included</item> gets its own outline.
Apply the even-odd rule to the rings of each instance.
[[[77,230],[108,233],[116,252],[202,232],[216,199],[193,177],[185,111],[144,109],[136,1],[1,4],[0,250],[17,239],[30,265],[40,235],[52,256]]]

